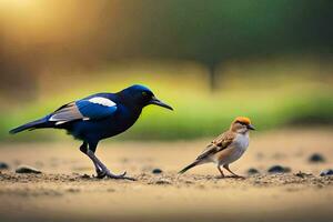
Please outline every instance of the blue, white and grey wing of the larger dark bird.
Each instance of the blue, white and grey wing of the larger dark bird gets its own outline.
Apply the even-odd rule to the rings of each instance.
[[[92,97],[68,103],[54,111],[49,121],[62,124],[74,120],[98,120],[111,117],[117,104],[103,97]]]

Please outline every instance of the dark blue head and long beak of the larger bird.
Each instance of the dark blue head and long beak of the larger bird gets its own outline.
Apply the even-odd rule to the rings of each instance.
[[[140,108],[144,108],[149,104],[155,104],[169,110],[173,110],[172,107],[155,98],[154,93],[150,89],[141,84],[131,85],[122,90],[120,93],[131,103]]]

